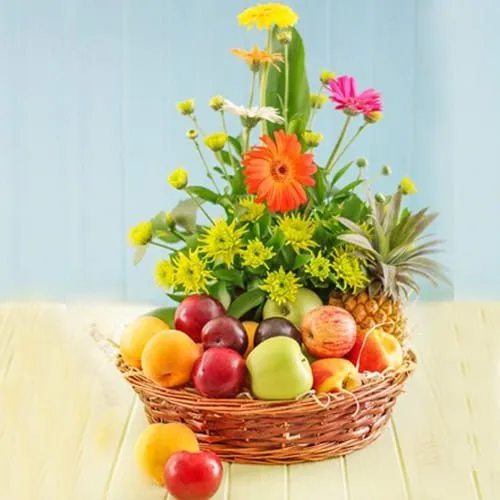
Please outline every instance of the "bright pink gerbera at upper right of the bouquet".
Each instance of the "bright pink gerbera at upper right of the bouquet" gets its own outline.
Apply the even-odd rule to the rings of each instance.
[[[363,113],[369,116],[375,111],[382,111],[380,92],[366,89],[361,94],[356,91],[356,80],[352,76],[339,76],[327,84],[330,99],[337,103],[335,109],[342,109],[349,115]]]

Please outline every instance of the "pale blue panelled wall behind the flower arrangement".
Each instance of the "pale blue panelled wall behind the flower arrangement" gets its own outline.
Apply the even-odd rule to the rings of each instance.
[[[229,49],[262,40],[236,23],[251,3],[0,0],[0,298],[161,300],[159,254],[134,268],[125,235],[175,203],[170,169],[202,182],[175,103],[195,97],[215,130],[212,95],[245,102]],[[385,118],[353,156],[409,175],[412,203],[442,213],[455,286],[426,297],[500,298],[500,3],[290,5],[311,80],[331,69],[383,92]],[[339,118],[324,109],[315,128],[331,137]]]

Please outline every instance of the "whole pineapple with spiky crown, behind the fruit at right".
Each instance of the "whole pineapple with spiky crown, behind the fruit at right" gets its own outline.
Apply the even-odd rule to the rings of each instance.
[[[401,213],[403,192],[398,188],[386,206],[371,194],[372,227],[367,232],[349,219],[338,217],[351,233],[339,238],[356,248],[355,254],[366,261],[370,284],[361,293],[334,293],[330,304],[349,311],[361,329],[382,324],[381,328],[398,338],[405,335],[404,303],[412,291],[420,293],[415,277],[423,277],[434,286],[448,282],[444,268],[429,255],[436,253],[439,240],[422,236],[438,214],[427,209]]]

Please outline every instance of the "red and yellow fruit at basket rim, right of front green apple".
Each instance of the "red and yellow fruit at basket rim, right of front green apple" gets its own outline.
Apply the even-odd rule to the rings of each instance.
[[[361,377],[356,367],[347,359],[325,358],[311,365],[313,388],[322,392],[353,391],[361,385]]]

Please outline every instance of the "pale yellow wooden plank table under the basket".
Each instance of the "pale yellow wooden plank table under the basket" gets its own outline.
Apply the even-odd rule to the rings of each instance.
[[[133,448],[142,407],[87,333],[150,307],[0,306],[0,498],[166,500]],[[321,463],[226,465],[216,499],[500,499],[500,304],[413,308],[419,367],[391,425]]]

